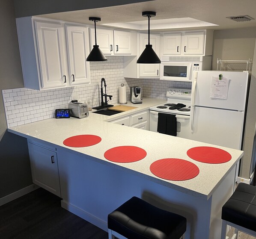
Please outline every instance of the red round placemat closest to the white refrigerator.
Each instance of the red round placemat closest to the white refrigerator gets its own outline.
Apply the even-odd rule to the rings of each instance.
[[[227,151],[214,147],[195,147],[187,151],[187,155],[196,161],[205,163],[223,163],[232,159]]]

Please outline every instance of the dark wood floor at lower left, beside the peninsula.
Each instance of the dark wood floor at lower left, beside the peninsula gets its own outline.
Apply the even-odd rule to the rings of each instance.
[[[39,188],[0,207],[0,239],[107,239],[107,232],[60,206]]]

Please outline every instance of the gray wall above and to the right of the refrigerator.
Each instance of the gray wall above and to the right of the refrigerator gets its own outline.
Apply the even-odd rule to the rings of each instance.
[[[211,69],[217,69],[217,58],[221,60],[255,59],[256,28],[214,31]],[[255,62],[256,63],[256,62]],[[244,156],[241,160],[239,177],[249,179],[254,165],[251,167],[253,141],[256,123],[256,64],[252,69],[250,93],[248,99],[246,127],[244,134]]]

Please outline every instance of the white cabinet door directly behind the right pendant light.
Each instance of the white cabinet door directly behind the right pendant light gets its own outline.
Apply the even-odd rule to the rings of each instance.
[[[147,34],[140,34],[140,54],[148,44],[149,38]],[[160,56],[160,36],[150,35],[150,44],[155,53]],[[159,77],[160,64],[139,64],[139,77]]]

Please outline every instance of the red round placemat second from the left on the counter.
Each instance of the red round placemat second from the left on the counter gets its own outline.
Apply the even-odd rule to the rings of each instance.
[[[118,146],[110,148],[104,157],[112,162],[136,162],[145,158],[147,152],[136,146]]]

